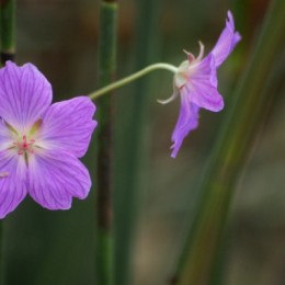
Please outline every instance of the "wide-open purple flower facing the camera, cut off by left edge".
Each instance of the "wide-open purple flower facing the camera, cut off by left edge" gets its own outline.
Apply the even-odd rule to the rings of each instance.
[[[48,209],[87,197],[91,180],[78,160],[96,122],[87,96],[52,104],[47,79],[31,64],[0,69],[0,218],[29,193]]]

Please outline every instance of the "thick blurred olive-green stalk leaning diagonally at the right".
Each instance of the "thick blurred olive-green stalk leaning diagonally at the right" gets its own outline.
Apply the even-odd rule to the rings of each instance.
[[[172,284],[214,284],[235,183],[272,99],[272,92],[263,89],[283,48],[284,13],[285,1],[273,1],[248,68],[231,95],[209,164],[201,178],[201,201]]]

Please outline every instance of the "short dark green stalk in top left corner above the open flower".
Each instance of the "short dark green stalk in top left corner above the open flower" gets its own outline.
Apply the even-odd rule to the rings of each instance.
[[[1,0],[1,62],[15,57],[15,0]]]

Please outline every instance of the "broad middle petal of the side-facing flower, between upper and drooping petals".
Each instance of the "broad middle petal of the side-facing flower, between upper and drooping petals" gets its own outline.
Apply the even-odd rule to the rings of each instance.
[[[187,83],[181,89],[190,101],[200,107],[218,112],[224,107],[224,99],[217,90],[215,59],[212,54],[193,67]]]

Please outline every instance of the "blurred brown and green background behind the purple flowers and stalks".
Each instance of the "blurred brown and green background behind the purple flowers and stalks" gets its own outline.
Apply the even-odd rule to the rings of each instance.
[[[197,54],[198,41],[209,52],[230,9],[242,42],[218,72],[219,91],[227,102],[269,2],[119,1],[117,78],[156,61],[179,65],[185,59],[183,49]],[[55,101],[96,89],[98,38],[99,1],[18,1],[16,61],[31,61],[39,68],[53,84]],[[281,61],[284,64],[284,54]],[[276,90],[280,94],[264,114],[249,162],[237,173],[225,244],[225,285],[285,284],[284,83]],[[171,159],[170,137],[180,102],[166,106],[156,102],[171,92],[172,75],[156,71],[122,88],[113,99],[114,196],[119,201],[116,213],[122,215],[116,235],[122,242],[118,247],[130,246],[134,285],[167,284],[171,276],[186,218],[196,202],[195,184],[223,119],[223,112],[202,112],[200,128],[184,140],[178,158]],[[95,140],[83,159],[93,178],[94,149]],[[136,173],[126,172],[132,157],[137,159]],[[26,198],[4,219],[8,285],[95,284],[95,191],[93,187],[86,201],[73,201],[68,212],[48,212]],[[124,212],[122,201],[133,203],[130,213]],[[136,221],[132,221],[132,230],[124,228],[129,220]],[[124,243],[128,232],[133,240],[126,237]],[[119,254],[124,264],[124,254]]]

